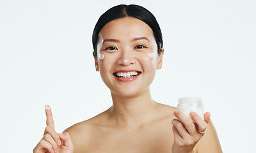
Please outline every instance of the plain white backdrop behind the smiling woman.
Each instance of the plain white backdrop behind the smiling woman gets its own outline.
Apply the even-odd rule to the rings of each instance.
[[[95,71],[92,31],[116,4],[152,11],[164,38],[163,69],[151,85],[159,103],[199,96],[223,152],[255,150],[255,1],[0,1],[1,152],[32,152],[44,105],[56,131],[111,106]]]

